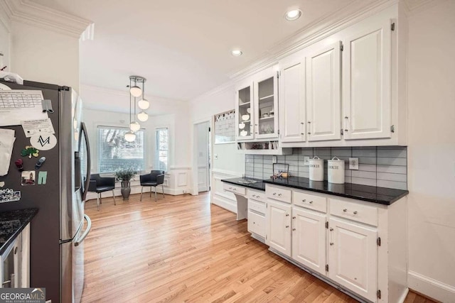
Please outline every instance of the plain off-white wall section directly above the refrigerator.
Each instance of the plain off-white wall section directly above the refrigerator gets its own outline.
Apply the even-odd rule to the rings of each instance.
[[[11,22],[11,72],[79,91],[79,39]]]

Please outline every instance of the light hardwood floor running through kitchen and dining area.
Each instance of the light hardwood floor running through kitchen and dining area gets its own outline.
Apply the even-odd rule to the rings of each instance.
[[[82,302],[356,302],[251,238],[209,194],[87,202]],[[406,303],[432,302],[410,293]]]

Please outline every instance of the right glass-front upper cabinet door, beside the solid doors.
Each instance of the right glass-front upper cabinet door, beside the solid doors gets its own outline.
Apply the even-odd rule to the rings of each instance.
[[[255,82],[255,138],[278,137],[277,72]]]

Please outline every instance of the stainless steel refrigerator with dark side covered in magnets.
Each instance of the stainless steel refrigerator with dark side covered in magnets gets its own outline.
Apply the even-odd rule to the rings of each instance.
[[[40,150],[38,157],[28,158],[21,155],[31,145],[22,126],[0,126],[16,131],[9,172],[0,176],[0,182],[4,182],[4,188],[21,192],[19,201],[0,203],[0,211],[39,209],[31,221],[30,285],[45,287],[46,299],[53,303],[80,302],[84,285],[83,241],[91,227],[84,211],[90,181],[90,145],[82,122],[82,101],[70,87],[28,81],[23,85],[0,83],[11,89],[40,90],[43,99],[50,100],[52,109],[45,109],[57,138],[54,148]],[[26,120],[27,116],[23,118]],[[45,161],[36,168],[41,157]],[[21,172],[15,163],[18,159],[23,161],[23,170],[36,171],[36,178],[38,172],[46,172],[45,184],[43,180],[41,184],[21,184]]]

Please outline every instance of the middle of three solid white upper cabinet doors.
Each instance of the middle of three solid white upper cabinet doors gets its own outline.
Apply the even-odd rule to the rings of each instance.
[[[341,42],[306,57],[308,141],[341,139]]]

